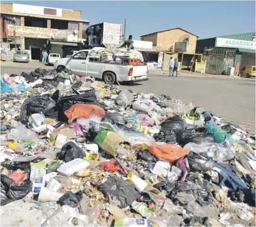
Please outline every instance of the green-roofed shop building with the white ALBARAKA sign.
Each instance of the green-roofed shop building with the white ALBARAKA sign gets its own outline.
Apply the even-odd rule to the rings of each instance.
[[[203,54],[206,73],[238,75],[245,66],[255,66],[255,33],[230,34],[197,40],[196,53]]]

